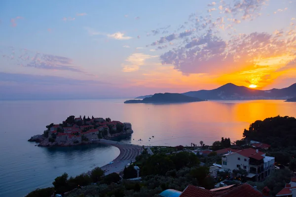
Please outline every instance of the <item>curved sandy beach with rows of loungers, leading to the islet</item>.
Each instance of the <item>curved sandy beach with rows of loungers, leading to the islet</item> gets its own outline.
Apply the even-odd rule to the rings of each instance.
[[[112,161],[112,164],[106,164],[101,167],[101,169],[105,171],[105,175],[122,171],[127,164],[131,163],[131,161],[135,162],[135,158],[140,155],[143,149],[143,147],[139,145],[116,142],[107,139],[93,140],[93,142],[109,144],[120,150],[119,156]]]

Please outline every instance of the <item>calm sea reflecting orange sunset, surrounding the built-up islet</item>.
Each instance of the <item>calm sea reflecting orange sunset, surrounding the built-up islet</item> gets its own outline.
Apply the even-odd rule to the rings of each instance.
[[[123,101],[0,101],[0,197],[24,196],[38,187],[50,186],[64,172],[75,176],[119,155],[117,148],[99,144],[44,148],[27,142],[32,135],[42,133],[46,125],[60,123],[69,115],[131,122],[134,133],[121,141],[164,146],[199,144],[200,140],[211,144],[222,136],[234,141],[241,139],[244,129],[256,120],[276,115],[296,117],[296,103],[283,100],[180,104]]]

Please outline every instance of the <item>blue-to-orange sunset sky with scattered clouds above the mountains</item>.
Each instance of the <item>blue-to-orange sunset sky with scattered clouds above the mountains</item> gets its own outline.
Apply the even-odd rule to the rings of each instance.
[[[296,83],[296,0],[1,0],[0,99]]]

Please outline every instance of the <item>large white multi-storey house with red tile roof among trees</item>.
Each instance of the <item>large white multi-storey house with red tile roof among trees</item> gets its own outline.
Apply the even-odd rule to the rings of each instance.
[[[275,158],[267,157],[265,153],[253,148],[229,152],[222,157],[222,168],[245,169],[249,174],[248,178],[254,181],[262,181],[275,169]]]

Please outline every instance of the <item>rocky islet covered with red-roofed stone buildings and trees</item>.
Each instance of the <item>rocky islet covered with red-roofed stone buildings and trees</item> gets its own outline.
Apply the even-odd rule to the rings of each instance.
[[[133,133],[131,123],[93,116],[92,118],[69,116],[63,123],[51,123],[46,128],[43,134],[35,135],[28,141],[35,141],[39,143],[38,146],[72,146]]]

